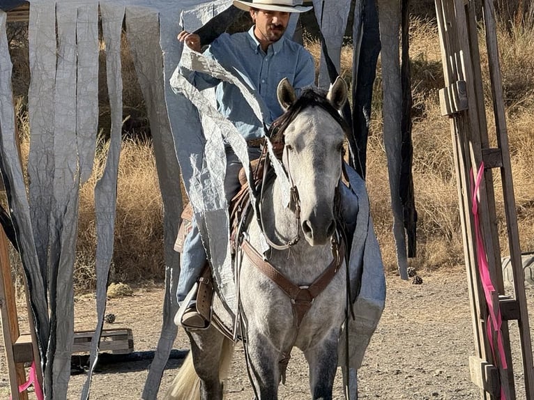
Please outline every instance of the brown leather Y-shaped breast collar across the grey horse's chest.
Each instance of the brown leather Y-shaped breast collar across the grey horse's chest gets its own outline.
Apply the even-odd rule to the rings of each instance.
[[[293,284],[282,272],[273,267],[270,263],[264,260],[264,257],[257,252],[250,243],[243,239],[241,248],[245,252],[248,259],[252,262],[258,270],[260,270],[266,277],[273,281],[277,286],[291,299],[291,307],[296,319],[296,327],[300,327],[307,311],[312,307],[315,298],[326,289],[330,284],[337,270],[339,270],[344,259],[344,246],[333,241],[332,253],[333,260],[330,262],[326,270],[310,285],[296,285]]]

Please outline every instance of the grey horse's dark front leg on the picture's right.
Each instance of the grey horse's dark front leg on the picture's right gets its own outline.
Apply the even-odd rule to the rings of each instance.
[[[337,369],[337,334],[332,333],[321,343],[304,351],[310,366],[312,399],[330,400]]]

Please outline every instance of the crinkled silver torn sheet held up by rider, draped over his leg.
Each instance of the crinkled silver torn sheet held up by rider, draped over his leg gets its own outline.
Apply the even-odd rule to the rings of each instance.
[[[254,114],[260,121],[264,121],[263,116],[266,115],[267,111],[263,100],[245,82],[225,70],[217,61],[208,59],[203,54],[193,52],[189,47],[185,47],[181,63],[186,70],[208,73],[238,86]],[[183,177],[201,235],[204,234],[202,240],[208,257],[211,259],[213,275],[216,282],[218,282],[221,297],[227,302],[230,309],[235,310],[237,307],[235,300],[236,289],[234,286],[234,274],[231,272],[231,252],[228,237],[229,217],[223,190],[224,175],[226,174],[226,156],[223,140],[230,144],[243,165],[250,164],[247,144],[231,121],[222,116],[206,100],[204,94],[199,92],[181,75],[178,68],[176,68],[174,75],[171,77],[171,86],[176,93],[181,93],[185,98],[188,98],[199,111],[199,118],[201,119],[202,130],[206,139],[204,159],[201,167],[195,167],[196,169],[192,171],[191,176],[187,176],[184,173],[185,166],[183,166]],[[289,180],[282,164],[273,153],[273,146],[268,139],[266,141],[277,179],[280,180],[284,193],[282,201],[284,206],[287,206],[290,199]],[[197,160],[192,159],[190,161],[197,162]],[[247,180],[252,182],[250,169],[245,168],[245,174]],[[252,190],[250,191],[250,196],[252,201],[255,201]],[[222,231],[223,226],[224,232]]]

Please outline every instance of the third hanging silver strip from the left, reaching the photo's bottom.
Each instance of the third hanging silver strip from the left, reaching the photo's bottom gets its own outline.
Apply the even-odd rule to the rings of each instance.
[[[56,3],[56,76],[52,105],[54,181],[47,265],[50,336],[47,363],[43,368],[45,396],[50,399],[67,397],[74,343],[73,270],[79,201],[76,15],[75,3],[66,0]]]

